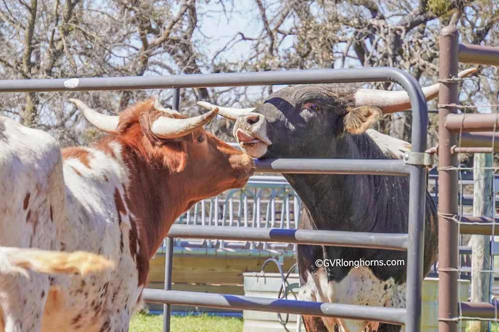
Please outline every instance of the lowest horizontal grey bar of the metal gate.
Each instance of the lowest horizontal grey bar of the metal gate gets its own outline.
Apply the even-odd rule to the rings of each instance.
[[[406,310],[404,308],[356,306],[229,294],[162,291],[156,289],[144,289],[142,295],[144,301],[153,303],[335,317],[397,325],[403,325],[406,318]]]

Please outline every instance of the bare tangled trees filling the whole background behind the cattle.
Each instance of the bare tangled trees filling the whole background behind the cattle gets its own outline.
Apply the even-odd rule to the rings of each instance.
[[[438,77],[438,32],[455,23],[462,39],[497,45],[499,3],[494,0],[245,0],[241,12],[228,0],[4,0],[0,2],[0,73],[4,79],[141,76],[282,69],[393,66],[422,84]],[[200,21],[247,19],[258,28],[232,33],[215,54]],[[254,20],[256,18],[256,20]],[[213,39],[217,39],[214,36]],[[229,56],[249,46],[244,57]],[[498,104],[497,70],[463,85],[467,103]],[[394,89],[393,84],[377,84]],[[249,106],[271,93],[246,88],[183,89],[183,111],[198,113],[196,100]],[[480,91],[479,97],[477,93]],[[25,125],[51,131],[63,144],[97,133],[80,122],[65,101],[85,99],[116,113],[137,99],[171,91],[0,94],[1,112]],[[435,105],[435,104],[433,104]],[[435,117],[431,117],[431,142]],[[409,140],[411,115],[388,115],[378,128]],[[218,119],[210,130],[231,140],[230,124]]]

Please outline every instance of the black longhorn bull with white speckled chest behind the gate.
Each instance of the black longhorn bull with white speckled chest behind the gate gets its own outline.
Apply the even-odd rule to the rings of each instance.
[[[474,69],[462,72],[464,76]],[[423,89],[427,99],[438,85]],[[198,102],[204,107],[214,107]],[[404,91],[375,91],[350,84],[291,86],[271,94],[254,109],[220,107],[237,120],[234,135],[256,158],[396,159],[410,145],[368,128],[383,113],[410,107]],[[299,228],[407,233],[409,181],[384,175],[284,174],[303,202]],[[437,252],[437,215],[426,196],[424,273]],[[406,261],[401,251],[299,245],[297,260],[302,300],[405,307]],[[343,263],[317,266],[316,260]],[[375,266],[355,262],[374,261]],[[344,264],[347,262],[348,264]],[[353,267],[350,262],[357,264]],[[382,262],[382,263],[380,263]],[[399,261],[400,262],[400,261]],[[320,264],[319,264],[320,265]],[[345,266],[347,265],[347,266]],[[360,266],[359,266],[360,265]],[[399,326],[304,316],[308,332],[399,331]]]

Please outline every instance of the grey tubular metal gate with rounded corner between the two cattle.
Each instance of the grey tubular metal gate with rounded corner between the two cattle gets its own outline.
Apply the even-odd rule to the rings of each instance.
[[[406,72],[389,67],[267,71],[227,74],[193,74],[115,78],[1,80],[0,92],[90,91],[174,88],[173,107],[179,108],[181,88],[386,82],[400,84],[409,94],[413,112],[412,152],[405,160],[274,159],[256,161],[256,171],[274,173],[375,174],[410,176],[408,234],[361,233],[322,230],[244,229],[217,226],[172,226],[166,239],[165,290],[145,289],[145,301],[165,304],[164,331],[169,331],[170,305],[191,305],[239,310],[379,321],[405,325],[418,332],[421,326],[423,241],[425,217],[426,150],[428,113],[419,83]],[[69,84],[70,83],[70,84]],[[334,245],[407,251],[406,308],[367,307],[336,303],[275,300],[268,298],[206,294],[171,290],[173,239],[205,238],[272,241],[310,245]]]

